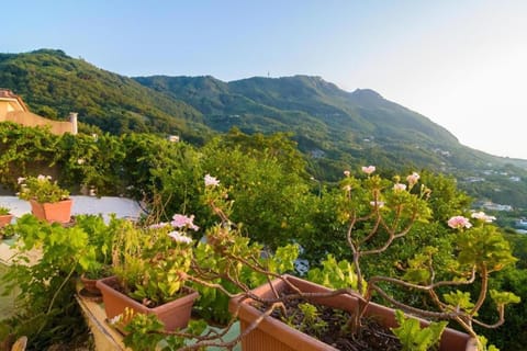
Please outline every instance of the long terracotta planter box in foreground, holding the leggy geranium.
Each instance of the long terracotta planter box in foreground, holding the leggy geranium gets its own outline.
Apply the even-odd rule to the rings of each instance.
[[[284,278],[294,286],[305,293],[326,293],[332,290],[318,284],[314,284],[291,275],[284,275]],[[274,280],[272,282],[277,291],[284,291],[287,284],[281,280]],[[261,285],[253,293],[264,298],[272,298],[274,295],[268,284]],[[312,299],[314,303],[339,308],[347,312],[352,312],[358,306],[358,299],[349,295],[337,295],[333,297],[317,297]],[[229,302],[229,310],[234,313],[238,306],[238,319],[240,325],[240,331],[243,332],[250,324],[261,316],[261,312],[250,305],[251,299],[244,299],[244,295],[238,295]],[[378,305],[369,304],[366,312],[367,316],[375,317],[378,321],[386,327],[397,327],[395,320],[395,312],[391,308]],[[419,319],[423,326],[429,322]],[[313,337],[310,337],[294,328],[289,327],[287,324],[273,318],[265,317],[258,327],[250,331],[246,337],[242,339],[242,349],[244,351],[315,351],[315,350],[337,350],[327,343],[324,343]],[[475,340],[469,335],[453,330],[445,329],[441,336],[441,342],[439,347],[440,351],[476,351]]]

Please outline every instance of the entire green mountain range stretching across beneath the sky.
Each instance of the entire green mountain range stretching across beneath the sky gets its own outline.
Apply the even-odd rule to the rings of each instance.
[[[343,169],[428,169],[452,174],[474,197],[527,208],[527,160],[461,145],[440,125],[370,89],[348,92],[321,77],[136,77],[109,72],[61,50],[0,54],[0,87],[49,117],[113,134],[178,134],[202,144],[214,133],[289,132],[313,177],[334,181]]]

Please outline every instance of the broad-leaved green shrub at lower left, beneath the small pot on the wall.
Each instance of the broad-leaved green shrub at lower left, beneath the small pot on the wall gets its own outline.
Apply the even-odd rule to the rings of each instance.
[[[13,227],[20,236],[20,254],[2,278],[5,293],[15,287],[20,292],[16,315],[8,320],[13,333],[31,336],[33,350],[86,338],[87,327],[72,296],[76,275],[96,262],[88,234],[79,227],[38,222],[31,215],[19,218]],[[35,254],[41,259],[29,265]]]

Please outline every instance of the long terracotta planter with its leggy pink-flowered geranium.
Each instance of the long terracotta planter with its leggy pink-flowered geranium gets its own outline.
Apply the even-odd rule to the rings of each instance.
[[[205,188],[206,202],[222,219],[222,225],[208,231],[208,242],[217,254],[227,257],[232,261],[229,267],[234,271],[223,276],[231,278],[232,283],[243,288],[243,293],[232,299],[231,310],[240,320],[244,350],[261,350],[264,346],[266,348],[272,346],[273,350],[332,349],[316,338],[306,337],[298,330],[291,331],[293,330],[291,327],[271,317],[277,315],[279,319],[289,321],[291,315],[288,314],[288,308],[293,299],[301,299],[309,304],[322,303],[322,305],[349,313],[340,329],[351,336],[350,339],[357,339],[363,335],[366,321],[375,317],[383,327],[388,328],[388,332],[391,328],[401,340],[410,340],[410,349],[418,349],[413,342],[419,337],[411,333],[414,332],[412,331],[414,328],[406,328],[401,324],[410,326],[416,321],[421,328],[425,328],[424,333],[428,333],[426,328],[439,330],[442,333],[429,338],[431,341],[440,340],[439,350],[483,350],[486,341],[478,337],[473,326],[491,328],[500,326],[503,324],[505,305],[518,302],[518,297],[512,293],[489,291],[489,274],[515,261],[507,241],[494,226],[489,224],[492,218],[484,214],[474,214],[473,227],[466,217],[453,217],[448,222],[449,227],[461,230],[456,236],[452,259],[448,262],[451,265],[452,276],[450,278],[436,276],[434,257],[437,249],[431,247],[423,248],[422,252],[417,252],[413,259],[408,260],[401,276],[366,278],[360,265],[363,257],[385,252],[394,240],[405,237],[416,223],[426,223],[431,214],[427,204],[430,191],[418,184],[417,173],[410,174],[406,182],[402,183],[399,177],[390,181],[372,176],[374,167],[365,167],[362,170],[367,174],[366,179],[356,179],[350,177],[349,172],[345,172],[345,179],[340,183],[341,192],[336,195],[337,217],[344,224],[347,223],[345,244],[352,253],[352,262],[348,272],[348,278],[351,278],[347,281],[349,285],[335,290],[321,290],[318,286],[313,291],[312,284],[266,271],[266,267],[257,263],[258,258],[244,256],[243,250],[235,245],[240,233],[231,224],[226,215],[228,203],[225,201],[227,199],[225,193],[217,190],[217,183]],[[256,290],[244,288],[243,284],[235,279],[237,265],[250,267],[266,274],[269,278],[268,283]],[[344,274],[340,279],[344,279]],[[481,288],[473,299],[470,293],[461,288],[476,280]],[[306,287],[310,290],[304,291]],[[422,298],[426,298],[426,305],[412,306],[405,301],[397,301],[394,297],[397,295],[393,293],[396,288],[423,294]],[[401,318],[395,309],[373,304],[374,296],[410,313],[413,317]],[[478,312],[489,296],[496,305],[498,315],[498,320],[493,324],[478,320]],[[344,305],[337,305],[337,301],[344,302]],[[435,305],[435,308],[423,307],[430,305]],[[306,315],[303,314],[303,316]],[[429,321],[417,317],[455,320],[467,333],[451,329],[446,329],[444,332],[444,327],[437,328],[436,325],[431,326]],[[415,332],[421,332],[421,328]],[[289,331],[284,331],[287,329]],[[311,340],[304,343],[295,339],[284,346],[287,333]],[[274,340],[264,339],[268,336]],[[312,341],[314,343],[311,343]],[[424,346],[422,344],[421,348]],[[359,347],[359,349],[362,348]]]

